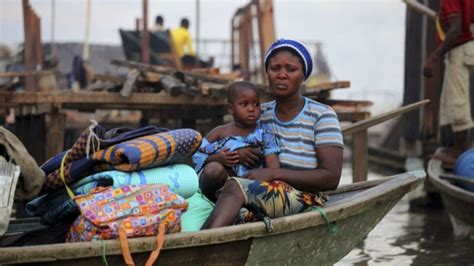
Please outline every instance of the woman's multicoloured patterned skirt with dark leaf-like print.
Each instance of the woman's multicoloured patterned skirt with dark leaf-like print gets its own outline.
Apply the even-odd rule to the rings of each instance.
[[[323,206],[327,201],[322,193],[302,192],[281,181],[268,183],[238,177],[231,177],[231,180],[242,189],[244,206],[248,210],[241,210],[236,223],[301,213],[313,206]]]

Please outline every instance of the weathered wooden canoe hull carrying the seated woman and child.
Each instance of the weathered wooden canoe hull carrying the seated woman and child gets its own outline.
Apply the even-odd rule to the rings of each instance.
[[[342,186],[324,208],[338,232],[329,233],[317,211],[263,222],[166,235],[158,265],[332,264],[360,243],[385,214],[425,177],[416,171]],[[143,265],[156,238],[129,239],[133,258]],[[105,252],[103,248],[105,246]],[[0,248],[0,264],[122,265],[117,240]]]

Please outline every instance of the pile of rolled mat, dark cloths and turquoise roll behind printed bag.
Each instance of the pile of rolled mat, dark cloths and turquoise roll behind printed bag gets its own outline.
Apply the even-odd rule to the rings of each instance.
[[[27,203],[26,211],[41,217],[45,225],[74,219],[79,209],[71,194],[87,195],[97,187],[164,184],[188,198],[199,184],[194,169],[183,162],[201,141],[193,129],[147,126],[106,131],[93,123],[71,149],[41,166],[46,179],[40,196]]]

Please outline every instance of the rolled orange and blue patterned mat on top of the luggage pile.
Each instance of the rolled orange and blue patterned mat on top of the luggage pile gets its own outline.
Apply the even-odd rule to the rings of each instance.
[[[100,170],[134,171],[172,164],[191,156],[201,145],[201,134],[177,129],[116,144],[92,156]]]

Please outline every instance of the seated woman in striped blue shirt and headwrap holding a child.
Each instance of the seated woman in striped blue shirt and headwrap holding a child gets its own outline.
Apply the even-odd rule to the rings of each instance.
[[[229,178],[203,228],[233,224],[243,206],[250,212],[241,211],[238,219],[249,219],[249,213],[259,218],[299,213],[323,205],[325,197],[318,192],[338,186],[343,141],[336,113],[300,92],[312,68],[308,50],[298,41],[280,39],[268,49],[265,70],[275,100],[262,105],[260,121],[277,136],[282,168]],[[238,152],[239,162],[248,167],[259,160],[251,148]]]

